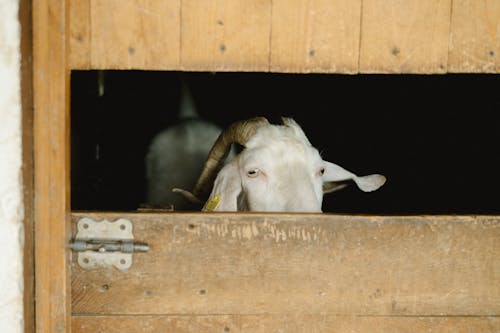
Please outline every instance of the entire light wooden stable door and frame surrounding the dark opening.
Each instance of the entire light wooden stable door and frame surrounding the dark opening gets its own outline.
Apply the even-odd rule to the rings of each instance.
[[[434,37],[422,52],[408,53],[405,59],[410,62],[401,56],[415,47],[412,40],[425,38],[389,36],[387,31],[393,30],[387,27],[363,34],[370,26],[383,26],[380,17],[387,14],[389,24],[400,25],[406,7],[392,1],[394,11],[387,13],[378,6],[381,1],[311,2],[307,10],[297,7],[300,2],[288,6],[284,1],[256,1],[255,8],[245,7],[245,1],[219,1],[220,7],[204,2],[209,14],[222,15],[223,20],[215,21],[196,21],[200,15],[206,18],[207,11],[193,1],[33,2],[36,330],[498,331],[498,216],[70,212],[69,74],[74,68],[498,72],[496,30],[491,27],[498,15],[484,11],[493,8],[492,1],[409,1],[408,6],[418,10],[412,12],[414,24],[403,30],[420,37],[431,31]],[[172,21],[143,17],[159,10],[155,6],[171,13]],[[181,9],[184,19],[200,24],[182,31],[182,36]],[[344,25],[320,30],[315,34],[319,41],[311,41],[309,35],[287,41],[289,22],[319,29],[322,25],[307,22],[316,22],[316,17],[331,23],[321,14],[336,15],[339,9],[345,12],[345,21],[339,20]],[[263,17],[270,23],[263,26],[262,17],[234,15],[241,10],[268,13]],[[438,15],[430,30],[421,19],[428,13]],[[465,13],[485,19],[468,20]],[[130,24],[120,24],[124,17]],[[246,39],[230,33],[240,21],[259,32],[251,57],[237,47]],[[472,21],[491,32],[484,34],[480,45],[475,33],[481,29],[471,27]],[[205,41],[197,39],[196,29],[211,24],[218,27],[212,27],[214,36],[229,38],[229,44],[214,37],[215,47],[201,48]],[[101,32],[109,29],[114,38],[104,39],[107,35]],[[346,29],[356,38],[343,35]],[[137,36],[137,31],[147,34]],[[249,35],[247,31],[244,36]],[[183,47],[162,49],[165,56],[158,57],[146,36],[172,38],[164,45]],[[454,41],[451,46],[448,36]],[[314,48],[325,39],[337,47]],[[103,48],[108,41],[116,45]],[[283,51],[290,43],[293,52]],[[471,49],[479,56],[462,52]],[[338,50],[343,51],[335,53]],[[377,52],[386,53],[373,58]],[[395,60],[381,60],[387,56]],[[134,255],[127,271],[82,270],[68,248],[74,223],[82,216],[129,218],[136,238],[149,243],[150,252]]]

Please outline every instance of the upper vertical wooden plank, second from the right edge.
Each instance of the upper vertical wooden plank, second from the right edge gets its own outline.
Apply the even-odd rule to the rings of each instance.
[[[450,0],[364,0],[360,72],[445,73]]]

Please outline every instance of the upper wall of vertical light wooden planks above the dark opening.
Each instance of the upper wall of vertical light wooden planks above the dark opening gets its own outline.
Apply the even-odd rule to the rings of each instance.
[[[497,0],[70,1],[70,66],[497,73]]]

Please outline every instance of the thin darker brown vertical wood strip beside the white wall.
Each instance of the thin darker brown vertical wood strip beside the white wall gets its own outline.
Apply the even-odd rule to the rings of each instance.
[[[31,1],[19,1],[21,22],[21,103],[23,126],[24,332],[35,330],[35,259],[33,225],[33,30]]]

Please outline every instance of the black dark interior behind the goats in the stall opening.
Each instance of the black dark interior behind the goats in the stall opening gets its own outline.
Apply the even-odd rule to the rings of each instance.
[[[144,156],[178,119],[180,75],[204,119],[293,117],[324,159],[387,176],[372,193],[351,185],[326,195],[324,212],[500,213],[498,75],[166,71],[72,72],[73,210],[143,206]]]

